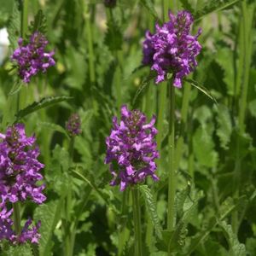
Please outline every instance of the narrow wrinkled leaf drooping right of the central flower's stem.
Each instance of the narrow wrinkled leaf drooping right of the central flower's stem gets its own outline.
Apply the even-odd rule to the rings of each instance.
[[[143,195],[143,199],[145,201],[148,215],[152,221],[152,224],[154,225],[155,233],[161,239],[162,228],[160,226],[160,220],[157,215],[156,204],[155,204],[153,195],[151,194],[151,191],[150,191],[150,189],[148,189],[147,185],[139,186],[139,190],[140,190],[141,194]]]

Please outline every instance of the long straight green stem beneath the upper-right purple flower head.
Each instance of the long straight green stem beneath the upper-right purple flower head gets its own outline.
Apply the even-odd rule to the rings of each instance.
[[[167,228],[172,230],[175,224],[175,193],[176,193],[176,174],[175,174],[175,91],[172,83],[170,87],[170,116],[169,116],[169,135],[168,135],[168,150],[169,150],[169,173],[168,173],[168,214]]]

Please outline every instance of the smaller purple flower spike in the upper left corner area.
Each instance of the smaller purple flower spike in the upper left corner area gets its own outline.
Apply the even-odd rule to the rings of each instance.
[[[34,32],[28,44],[24,45],[23,43],[24,40],[20,38],[18,40],[19,48],[15,49],[11,61],[17,63],[20,79],[27,84],[32,76],[40,71],[45,73],[48,67],[55,65],[55,60],[52,57],[55,52],[44,51],[48,41],[40,32]]]

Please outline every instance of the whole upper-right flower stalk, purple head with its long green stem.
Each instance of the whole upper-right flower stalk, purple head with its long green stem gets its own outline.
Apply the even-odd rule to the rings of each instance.
[[[179,11],[177,15],[169,12],[169,21],[163,26],[156,25],[155,33],[146,32],[143,42],[143,64],[149,65],[156,73],[155,83],[159,84],[172,74],[169,90],[169,132],[168,132],[168,212],[167,228],[172,230],[175,225],[175,194],[176,194],[176,165],[175,165],[175,91],[181,88],[183,77],[189,75],[197,66],[195,56],[201,51],[197,38],[190,32],[193,17],[187,11]],[[161,108],[160,108],[161,110]]]

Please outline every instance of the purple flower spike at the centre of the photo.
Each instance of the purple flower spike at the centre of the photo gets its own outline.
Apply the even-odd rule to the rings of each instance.
[[[108,146],[105,164],[110,164],[113,175],[111,185],[120,184],[123,191],[129,184],[141,183],[147,176],[155,181],[159,178],[154,174],[159,157],[154,137],[155,117],[146,123],[146,116],[139,110],[121,108],[121,120],[113,117],[113,129],[106,139]]]

